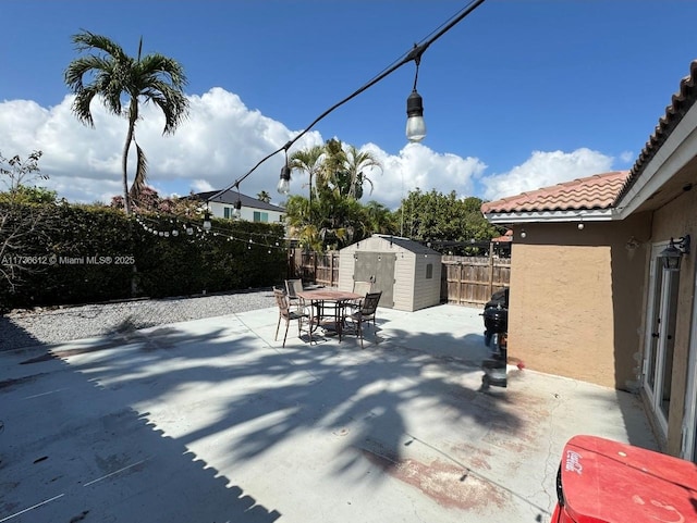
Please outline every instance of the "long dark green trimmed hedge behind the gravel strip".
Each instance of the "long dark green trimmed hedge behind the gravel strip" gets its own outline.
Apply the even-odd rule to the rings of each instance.
[[[197,222],[189,236],[172,216],[0,203],[0,246],[9,246],[0,252],[9,275],[0,275],[0,311],[270,287],[284,278],[282,226],[213,220],[206,233]]]

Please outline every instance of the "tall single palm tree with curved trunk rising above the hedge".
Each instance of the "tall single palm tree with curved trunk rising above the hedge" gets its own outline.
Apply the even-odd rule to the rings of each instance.
[[[85,125],[95,126],[90,104],[99,97],[107,110],[124,114],[129,119],[129,130],[123,147],[123,198],[126,214],[131,213],[131,198],[137,198],[145,187],[147,161],[135,140],[135,124],[138,121],[138,104],[152,102],[164,114],[163,135],[173,134],[188,113],[188,100],[183,88],[186,76],[182,65],[159,53],[142,57],[143,38],[136,59],[129,57],[121,46],[105,36],[83,30],[72,37],[78,52],[96,51],[73,60],[65,70],[65,84],[75,95],[73,113]],[[123,105],[127,104],[126,109]],[[129,191],[127,161],[131,142],[136,147],[136,172]]]

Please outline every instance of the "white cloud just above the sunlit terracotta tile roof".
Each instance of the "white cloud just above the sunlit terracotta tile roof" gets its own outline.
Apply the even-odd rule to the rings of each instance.
[[[534,151],[530,158],[508,173],[481,178],[484,198],[497,200],[612,170],[613,158],[582,148],[573,152]]]

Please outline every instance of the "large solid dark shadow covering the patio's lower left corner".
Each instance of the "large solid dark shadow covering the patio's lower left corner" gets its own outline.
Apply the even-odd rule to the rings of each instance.
[[[105,340],[102,350],[118,348],[113,341]],[[0,470],[7,480],[0,483],[0,520],[280,518],[164,435],[147,412],[119,401],[46,347],[0,353]]]

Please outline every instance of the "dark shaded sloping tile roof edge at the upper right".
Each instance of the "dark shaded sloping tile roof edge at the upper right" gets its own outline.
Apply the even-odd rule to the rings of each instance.
[[[644,149],[639,153],[634,166],[629,171],[629,177],[617,195],[616,202],[632,188],[636,179],[644,172],[644,169],[646,169],[656,155],[656,152],[665,144],[665,140],[673,129],[693,107],[695,100],[697,100],[697,60],[693,60],[689,64],[689,75],[681,80],[680,90],[673,95],[671,104],[665,108],[665,114],[661,116],[653,134],[649,137],[646,146],[644,146]]]

